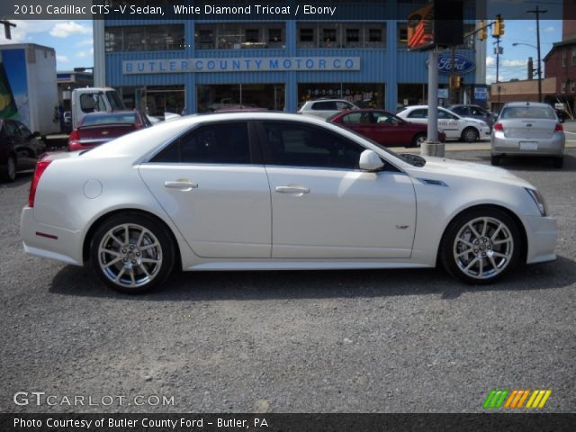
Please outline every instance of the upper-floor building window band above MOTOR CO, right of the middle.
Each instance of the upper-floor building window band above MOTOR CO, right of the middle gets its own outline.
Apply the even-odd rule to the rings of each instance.
[[[383,48],[385,25],[385,23],[299,23],[298,48]]]

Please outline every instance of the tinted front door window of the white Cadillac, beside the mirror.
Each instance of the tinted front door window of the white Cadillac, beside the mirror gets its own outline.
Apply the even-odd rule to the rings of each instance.
[[[362,146],[329,130],[289,121],[265,121],[267,163],[280,166],[356,169]]]

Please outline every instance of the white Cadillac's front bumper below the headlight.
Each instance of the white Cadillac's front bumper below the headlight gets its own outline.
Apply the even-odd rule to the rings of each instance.
[[[554,247],[558,239],[558,226],[552,217],[525,216],[527,225],[527,264],[544,263],[556,259]]]

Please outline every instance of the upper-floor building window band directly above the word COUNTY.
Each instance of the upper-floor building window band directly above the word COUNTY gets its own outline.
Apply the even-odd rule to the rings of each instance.
[[[196,25],[196,49],[284,48],[280,24],[220,23]]]

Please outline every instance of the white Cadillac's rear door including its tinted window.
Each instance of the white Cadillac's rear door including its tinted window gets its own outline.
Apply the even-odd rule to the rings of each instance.
[[[270,187],[251,128],[246,121],[200,125],[139,166],[199,257],[270,257]]]

